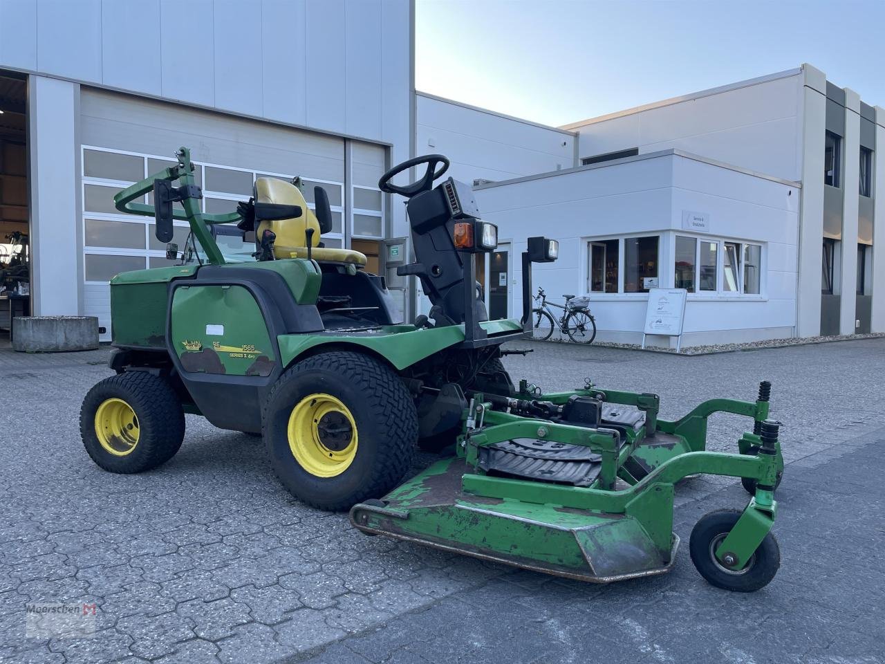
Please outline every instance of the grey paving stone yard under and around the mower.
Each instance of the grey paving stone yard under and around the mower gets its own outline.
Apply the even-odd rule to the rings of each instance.
[[[107,350],[0,351],[0,662],[883,661],[885,340],[702,357],[515,345],[535,352],[504,359],[514,378],[656,391],[664,417],[771,380],[788,461],[773,583],[713,589],[686,545],[670,575],[593,586],[364,537],[289,498],[260,441],[191,416],[165,467],[110,475],[77,429]],[[717,416],[712,447],[742,427]],[[678,492],[686,543],[745,500],[729,478]],[[27,639],[27,602],[95,602],[98,632]]]

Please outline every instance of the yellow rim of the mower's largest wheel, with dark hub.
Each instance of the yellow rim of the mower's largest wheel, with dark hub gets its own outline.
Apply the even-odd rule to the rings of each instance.
[[[304,397],[289,415],[289,449],[311,475],[341,475],[357,456],[357,424],[338,398],[318,392]]]

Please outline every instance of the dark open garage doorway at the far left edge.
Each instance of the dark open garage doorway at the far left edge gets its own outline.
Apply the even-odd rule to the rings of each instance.
[[[0,71],[0,344],[30,313],[27,78]]]

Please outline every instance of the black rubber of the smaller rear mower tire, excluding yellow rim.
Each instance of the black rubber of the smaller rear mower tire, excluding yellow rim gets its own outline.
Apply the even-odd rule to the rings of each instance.
[[[126,456],[104,449],[96,435],[96,411],[109,398],[126,401],[138,418],[138,443]],[[86,452],[111,473],[142,473],[172,459],[184,440],[184,411],[172,385],[146,371],[105,378],[89,390],[80,409],[80,434]]]

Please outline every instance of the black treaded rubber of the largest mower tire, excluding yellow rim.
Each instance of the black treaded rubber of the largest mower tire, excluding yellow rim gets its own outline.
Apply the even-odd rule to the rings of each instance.
[[[356,423],[356,455],[340,475],[312,475],[289,448],[289,415],[315,392],[340,399]],[[273,385],[262,415],[273,472],[307,505],[338,512],[381,498],[412,465],[418,438],[412,395],[398,375],[367,355],[329,351],[298,362]]]

